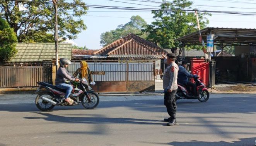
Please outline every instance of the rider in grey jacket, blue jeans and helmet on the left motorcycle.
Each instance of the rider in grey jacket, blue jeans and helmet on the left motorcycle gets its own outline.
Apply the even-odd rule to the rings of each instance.
[[[67,80],[70,81],[80,81],[78,78],[74,78],[67,71],[68,65],[71,64],[71,61],[66,58],[60,58],[60,68],[57,71],[57,76],[55,80],[55,85],[57,88],[66,90],[65,101],[71,105],[71,99],[69,98],[70,93],[73,90],[73,86],[66,84]]]

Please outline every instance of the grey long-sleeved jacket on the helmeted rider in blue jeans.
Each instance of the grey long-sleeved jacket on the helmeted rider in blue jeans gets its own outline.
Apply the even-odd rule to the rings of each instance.
[[[55,85],[65,83],[67,80],[75,81],[75,78],[68,73],[65,67],[60,67],[57,71],[57,76],[55,79]]]

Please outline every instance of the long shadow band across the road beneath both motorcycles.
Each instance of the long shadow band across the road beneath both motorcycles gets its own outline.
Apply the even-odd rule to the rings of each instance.
[[[128,107],[133,110],[145,112],[165,111],[164,100],[129,100],[129,101],[104,101],[96,109]],[[178,112],[186,113],[252,113],[256,112],[256,97],[222,97],[210,98],[206,103],[197,100],[178,100]],[[55,106],[53,110],[84,109],[79,106]],[[9,104],[1,105],[0,111],[10,112],[36,112],[39,111],[34,104]]]

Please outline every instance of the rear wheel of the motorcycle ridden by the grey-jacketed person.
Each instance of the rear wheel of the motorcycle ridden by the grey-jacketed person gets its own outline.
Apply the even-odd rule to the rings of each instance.
[[[52,100],[53,96],[49,92],[41,92],[36,96],[36,107],[40,109],[41,111],[49,111],[54,108],[55,105],[52,105],[51,103],[48,103],[46,101],[42,100],[42,97],[47,97]]]

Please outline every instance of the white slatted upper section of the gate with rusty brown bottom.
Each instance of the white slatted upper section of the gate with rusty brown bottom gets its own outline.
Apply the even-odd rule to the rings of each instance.
[[[153,81],[154,63],[97,63],[88,62],[94,81]],[[68,71],[74,73],[80,68],[75,62],[68,66]]]

